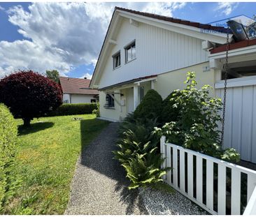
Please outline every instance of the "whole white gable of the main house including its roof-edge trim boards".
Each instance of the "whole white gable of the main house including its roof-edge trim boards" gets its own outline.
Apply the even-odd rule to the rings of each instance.
[[[90,87],[103,88],[135,77],[166,73],[208,61],[207,52],[201,49],[202,40],[211,39],[218,43],[226,40],[221,33],[201,33],[195,27],[183,28],[185,25],[182,24],[169,25],[162,20],[143,19],[126,11],[113,14]],[[134,39],[137,58],[125,64],[124,47]],[[122,63],[120,68],[113,70],[112,55],[118,50]]]

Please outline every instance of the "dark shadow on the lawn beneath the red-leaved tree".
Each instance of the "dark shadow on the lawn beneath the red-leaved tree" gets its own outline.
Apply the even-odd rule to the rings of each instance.
[[[31,124],[30,127],[25,127],[23,125],[18,126],[18,135],[27,135],[30,133],[36,133],[47,128],[51,128],[54,125],[52,122],[38,122]]]

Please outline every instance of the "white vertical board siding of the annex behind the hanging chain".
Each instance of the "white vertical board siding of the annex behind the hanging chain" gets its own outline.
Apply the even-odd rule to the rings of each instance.
[[[223,100],[223,89],[216,89],[216,94]],[[253,163],[256,163],[255,111],[256,85],[227,88],[224,146],[236,149],[241,159]]]

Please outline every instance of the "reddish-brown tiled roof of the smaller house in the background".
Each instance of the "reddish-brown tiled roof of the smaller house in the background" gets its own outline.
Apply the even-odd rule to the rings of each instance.
[[[59,83],[62,86],[63,93],[97,95],[97,89],[89,89],[89,79],[75,77],[59,77]]]

